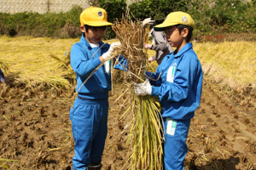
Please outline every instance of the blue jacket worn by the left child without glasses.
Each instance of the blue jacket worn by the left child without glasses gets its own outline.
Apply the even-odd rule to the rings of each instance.
[[[104,66],[102,65],[96,70],[98,65],[101,65],[100,56],[108,51],[110,45],[108,43],[100,42],[100,48],[91,48],[90,43],[81,37],[80,42],[74,43],[70,52],[70,61],[73,71],[77,77],[76,91],[79,96],[86,99],[107,99],[108,91],[111,90],[111,73],[106,73]],[[119,57],[118,65],[115,65],[116,69],[125,70],[127,61],[123,57]],[[124,66],[122,66],[124,65]],[[87,82],[83,82],[92,74]]]

